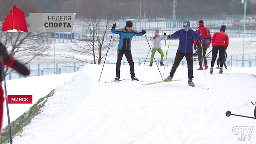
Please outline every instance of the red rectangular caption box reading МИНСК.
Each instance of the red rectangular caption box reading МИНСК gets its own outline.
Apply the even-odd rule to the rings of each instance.
[[[10,103],[32,103],[32,95],[8,95],[8,104]]]

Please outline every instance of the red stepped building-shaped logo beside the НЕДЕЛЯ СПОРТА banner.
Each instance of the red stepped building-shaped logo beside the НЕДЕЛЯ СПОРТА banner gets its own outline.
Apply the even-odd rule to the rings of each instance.
[[[19,8],[16,8],[16,5],[12,6],[10,14],[7,15],[7,18],[4,20],[2,31],[7,30],[20,30],[23,32],[28,32],[27,23],[25,19],[25,14]]]

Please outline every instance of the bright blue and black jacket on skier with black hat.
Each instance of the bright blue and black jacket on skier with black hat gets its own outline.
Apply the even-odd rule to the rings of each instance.
[[[128,31],[126,28],[120,28],[111,30],[112,33],[119,34],[119,44],[117,49],[129,51],[131,50],[131,42],[133,36],[143,36],[141,32],[138,32],[134,29]]]

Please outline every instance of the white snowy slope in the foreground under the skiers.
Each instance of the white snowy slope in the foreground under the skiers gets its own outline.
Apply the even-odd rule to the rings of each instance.
[[[135,66],[135,76],[145,82],[115,78],[116,65],[86,65],[60,85],[41,115],[13,139],[19,144],[172,144],[241,143],[232,132],[235,126],[255,126],[256,68],[228,67],[213,75],[196,70],[193,82],[209,90],[188,86],[186,66],[179,66],[174,79],[162,80],[156,66]],[[164,77],[172,66],[165,67]],[[163,75],[164,67],[160,67]],[[131,79],[129,65],[121,66],[121,78]],[[255,131],[255,130],[254,130]],[[254,143],[255,132],[251,140]]]

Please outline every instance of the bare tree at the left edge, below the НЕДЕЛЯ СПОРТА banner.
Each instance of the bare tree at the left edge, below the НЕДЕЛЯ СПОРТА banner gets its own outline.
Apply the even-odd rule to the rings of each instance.
[[[24,64],[43,56],[51,44],[48,33],[2,32],[0,38],[2,43],[9,48],[9,55],[21,60]],[[7,72],[8,68],[5,71]]]

